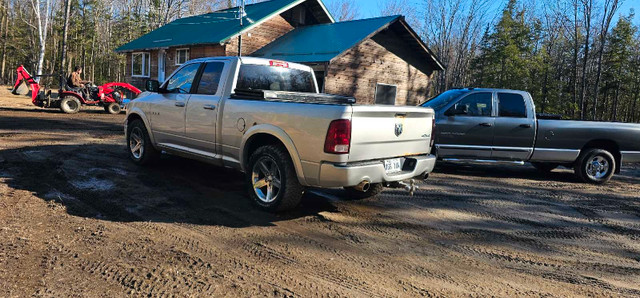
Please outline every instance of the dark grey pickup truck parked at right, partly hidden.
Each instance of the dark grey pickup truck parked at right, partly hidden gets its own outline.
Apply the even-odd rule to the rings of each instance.
[[[502,89],[453,89],[422,104],[436,112],[436,150],[445,161],[572,167],[605,183],[623,162],[640,162],[640,124],[538,119],[531,95]]]

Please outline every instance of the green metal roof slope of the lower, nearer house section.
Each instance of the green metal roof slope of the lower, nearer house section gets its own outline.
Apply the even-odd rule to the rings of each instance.
[[[329,62],[400,18],[389,16],[297,28],[252,56],[290,62]]]

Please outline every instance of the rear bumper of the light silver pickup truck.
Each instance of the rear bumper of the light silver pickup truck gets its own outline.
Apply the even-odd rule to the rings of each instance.
[[[411,156],[405,159],[405,164],[411,165],[404,171],[388,175],[384,170],[382,160],[362,162],[347,165],[323,163],[320,167],[320,187],[356,186],[362,181],[369,183],[395,182],[431,173],[436,164],[434,155]]]

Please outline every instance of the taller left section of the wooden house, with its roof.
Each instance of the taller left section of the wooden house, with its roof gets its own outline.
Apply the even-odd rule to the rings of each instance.
[[[116,49],[127,55],[126,79],[142,87],[164,81],[181,64],[196,58],[249,55],[294,28],[333,23],[321,0],[271,0],[247,5],[242,25],[238,8],[175,20]]]

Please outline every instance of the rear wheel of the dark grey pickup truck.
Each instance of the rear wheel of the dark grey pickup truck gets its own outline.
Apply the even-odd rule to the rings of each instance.
[[[574,171],[584,182],[603,184],[611,180],[616,172],[616,160],[607,150],[587,149],[578,157]]]

